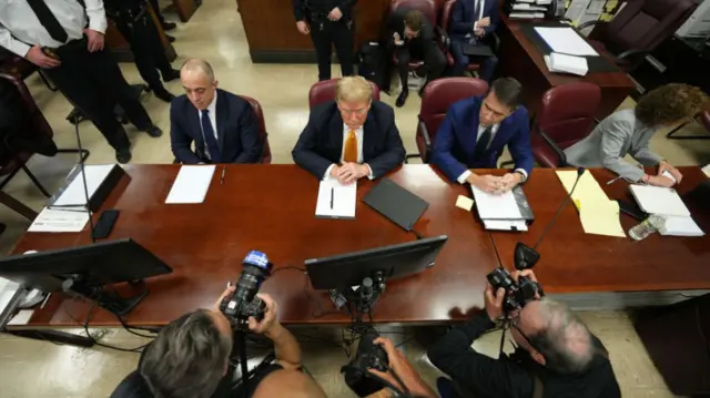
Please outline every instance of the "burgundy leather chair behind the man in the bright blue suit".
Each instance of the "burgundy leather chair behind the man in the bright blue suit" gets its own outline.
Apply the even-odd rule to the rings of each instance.
[[[422,157],[424,163],[429,163],[432,142],[436,137],[439,124],[446,118],[446,112],[455,102],[470,98],[486,95],[488,83],[476,78],[440,78],[429,82],[422,95],[419,108],[419,123],[415,136],[418,154],[407,155],[407,159]]]

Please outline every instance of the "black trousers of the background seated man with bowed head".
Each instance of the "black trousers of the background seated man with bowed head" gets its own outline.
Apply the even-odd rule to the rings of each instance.
[[[422,60],[424,64],[416,70],[417,74],[426,74],[426,83],[438,79],[446,69],[446,58],[435,42],[412,43],[395,48],[397,54],[397,72],[402,81],[402,90],[407,90],[409,62]]]

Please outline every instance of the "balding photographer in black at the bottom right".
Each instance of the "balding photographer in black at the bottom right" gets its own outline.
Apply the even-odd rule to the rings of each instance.
[[[527,269],[514,272],[532,280]],[[601,341],[565,305],[548,299],[529,302],[510,314],[510,335],[518,346],[510,356],[494,359],[471,344],[503,318],[505,289],[486,287],[485,312],[453,328],[428,351],[432,363],[452,377],[439,378],[442,398],[463,390],[477,398],[621,397],[608,354]]]

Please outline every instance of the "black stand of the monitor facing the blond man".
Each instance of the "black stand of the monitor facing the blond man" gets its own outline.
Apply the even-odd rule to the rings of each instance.
[[[385,277],[382,272],[376,272],[372,277],[365,277],[357,287],[345,287],[328,290],[333,304],[338,309],[344,309],[351,316],[371,315],[377,304],[377,299],[385,293]]]

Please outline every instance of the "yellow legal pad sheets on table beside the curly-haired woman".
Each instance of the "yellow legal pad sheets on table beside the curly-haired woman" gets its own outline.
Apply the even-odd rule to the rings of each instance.
[[[577,180],[577,171],[558,171],[557,177],[567,193]],[[588,234],[625,237],[619,215],[619,203],[609,201],[601,186],[588,170],[579,178],[572,193],[572,201],[579,211],[581,226]]]

